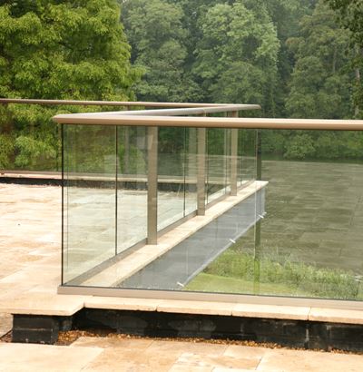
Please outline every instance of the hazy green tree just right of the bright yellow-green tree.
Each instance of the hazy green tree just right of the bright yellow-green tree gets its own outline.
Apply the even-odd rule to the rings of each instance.
[[[195,84],[184,71],[188,32],[183,11],[165,0],[123,2],[123,23],[132,44],[132,62],[145,72],[136,85],[140,100],[181,102],[195,98]]]

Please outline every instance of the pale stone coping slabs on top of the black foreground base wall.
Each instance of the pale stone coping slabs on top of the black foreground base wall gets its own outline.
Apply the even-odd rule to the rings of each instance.
[[[23,315],[72,316],[82,308],[220,315],[243,318],[276,318],[363,325],[363,310],[211,302],[177,299],[135,299],[56,295],[31,292],[0,304],[0,312]]]

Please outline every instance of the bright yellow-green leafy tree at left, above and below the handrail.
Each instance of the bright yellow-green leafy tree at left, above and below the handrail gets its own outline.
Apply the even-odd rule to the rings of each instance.
[[[115,0],[0,0],[1,97],[128,101],[139,76]],[[8,113],[0,132],[16,132],[16,165],[56,157],[55,108]]]

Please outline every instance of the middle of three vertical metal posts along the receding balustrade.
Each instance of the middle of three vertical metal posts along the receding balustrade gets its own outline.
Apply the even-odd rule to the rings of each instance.
[[[205,128],[198,128],[197,214],[205,215]]]

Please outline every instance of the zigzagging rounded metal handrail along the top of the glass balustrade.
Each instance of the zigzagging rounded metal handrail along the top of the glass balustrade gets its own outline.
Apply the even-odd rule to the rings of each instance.
[[[207,113],[226,113],[243,110],[259,110],[258,104],[228,103],[150,103],[150,102],[112,102],[112,101],[73,101],[73,100],[34,100],[0,98],[0,104],[55,104],[83,106],[123,106],[123,107],[162,107],[173,110],[140,110],[109,113],[75,113],[54,116],[60,124],[90,125],[131,125],[131,126],[173,126],[194,128],[234,128],[234,129],[292,129],[292,130],[330,130],[362,131],[361,120],[323,120],[323,119],[270,119],[270,118],[211,118],[176,117],[178,115],[206,115]],[[179,108],[179,109],[178,109]],[[137,117],[136,117],[137,116]]]

